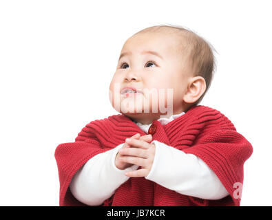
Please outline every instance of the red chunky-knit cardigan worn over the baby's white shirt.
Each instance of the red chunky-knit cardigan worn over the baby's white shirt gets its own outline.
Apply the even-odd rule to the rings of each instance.
[[[243,165],[253,148],[226,116],[198,105],[165,125],[158,120],[152,123],[156,126],[153,140],[200,157],[216,173],[229,196],[219,200],[200,199],[169,190],[145,177],[130,177],[102,206],[240,206],[241,194],[236,190],[242,186]],[[75,142],[59,144],[55,158],[60,206],[84,206],[69,188],[76,171],[94,155],[109,151],[136,133],[146,134],[126,115],[118,114],[90,122]]]

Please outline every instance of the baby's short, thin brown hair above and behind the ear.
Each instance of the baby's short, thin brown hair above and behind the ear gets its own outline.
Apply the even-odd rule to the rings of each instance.
[[[195,103],[193,103],[193,105],[197,105],[211,86],[213,74],[216,72],[216,58],[213,54],[216,50],[207,40],[203,39],[188,28],[184,28],[180,25],[156,25],[140,30],[136,34],[160,31],[173,31],[174,34],[181,34],[180,36],[183,37],[183,40],[185,39],[185,41],[187,41],[186,45],[183,44],[184,47],[182,47],[182,50],[185,53],[189,53],[188,57],[191,61],[193,76],[202,76],[206,82],[205,92]]]

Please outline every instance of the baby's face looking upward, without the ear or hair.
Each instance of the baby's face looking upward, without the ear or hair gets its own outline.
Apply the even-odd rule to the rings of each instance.
[[[184,111],[191,72],[180,41],[174,34],[148,32],[125,42],[109,86],[116,111],[143,124]]]

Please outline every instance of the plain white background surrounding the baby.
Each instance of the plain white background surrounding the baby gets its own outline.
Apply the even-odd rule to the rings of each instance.
[[[242,206],[271,206],[269,1],[0,1],[0,205],[59,206],[56,146],[117,114],[108,88],[123,43],[152,25],[183,25],[215,47],[200,104],[253,145]]]

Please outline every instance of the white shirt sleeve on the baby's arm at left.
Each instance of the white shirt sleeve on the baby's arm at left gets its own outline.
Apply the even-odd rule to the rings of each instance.
[[[116,168],[115,157],[122,146],[119,144],[112,150],[98,153],[76,172],[70,183],[70,190],[76,199],[89,206],[99,206],[129,179],[125,173],[136,170],[138,166],[125,170]]]

